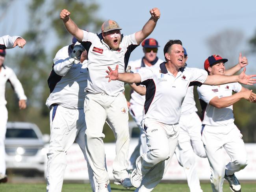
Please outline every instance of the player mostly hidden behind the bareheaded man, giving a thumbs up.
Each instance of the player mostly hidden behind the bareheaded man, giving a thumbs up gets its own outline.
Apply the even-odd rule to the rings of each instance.
[[[184,47],[183,49],[184,66],[188,68],[186,64],[187,52]],[[238,60],[237,65],[225,71],[225,75],[233,75],[248,64],[247,58],[242,57],[241,53],[239,54]],[[205,70],[202,70],[202,72],[207,74]],[[190,86],[182,103],[179,121],[180,135],[175,154],[179,164],[184,168],[190,192],[202,192],[197,175],[195,154],[198,157],[205,158],[206,153],[201,139],[202,121],[197,115],[195,104],[194,86]]]

